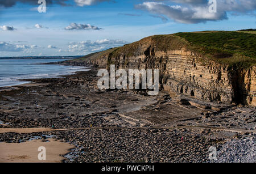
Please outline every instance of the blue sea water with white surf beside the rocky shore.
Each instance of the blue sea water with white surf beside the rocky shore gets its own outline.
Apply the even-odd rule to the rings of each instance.
[[[40,65],[36,63],[59,62],[63,59],[0,59],[0,87],[28,83],[19,79],[54,78],[89,70],[81,66]]]

